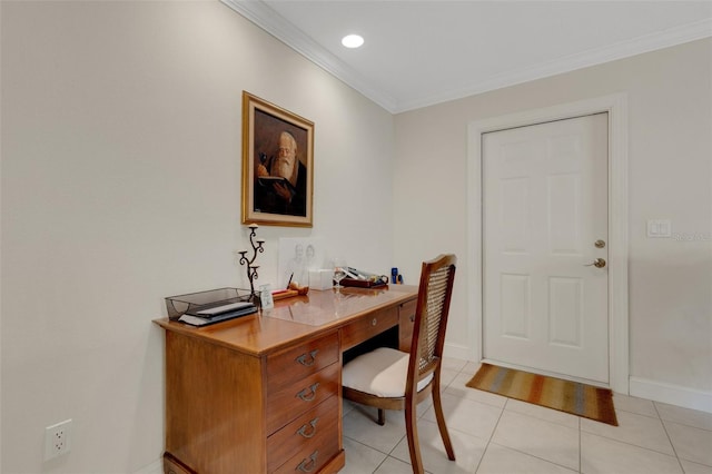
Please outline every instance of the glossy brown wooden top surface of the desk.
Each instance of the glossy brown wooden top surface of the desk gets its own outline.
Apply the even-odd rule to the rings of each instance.
[[[235,350],[263,355],[301,339],[314,338],[373,312],[400,305],[417,296],[417,286],[392,285],[386,288],[343,288],[309,292],[306,296],[275,302],[273,309],[192,327],[168,318],[155,323],[164,329],[206,339]]]

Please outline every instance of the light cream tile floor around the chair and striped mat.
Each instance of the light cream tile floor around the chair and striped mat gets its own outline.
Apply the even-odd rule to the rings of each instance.
[[[431,402],[418,406],[425,470],[432,474],[712,474],[712,414],[614,394],[617,427],[467,388],[476,363],[447,358],[443,405],[451,462]],[[403,412],[344,402],[342,474],[411,473]]]

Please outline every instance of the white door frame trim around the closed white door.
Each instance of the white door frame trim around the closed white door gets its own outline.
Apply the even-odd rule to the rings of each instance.
[[[482,135],[514,127],[609,113],[609,384],[629,394],[627,95],[615,93],[476,120],[467,126],[467,313],[474,361],[482,361]]]

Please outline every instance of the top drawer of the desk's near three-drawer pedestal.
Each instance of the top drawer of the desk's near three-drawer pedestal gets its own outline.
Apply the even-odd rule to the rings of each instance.
[[[338,334],[332,333],[316,340],[267,357],[267,393],[315,374],[338,362]]]

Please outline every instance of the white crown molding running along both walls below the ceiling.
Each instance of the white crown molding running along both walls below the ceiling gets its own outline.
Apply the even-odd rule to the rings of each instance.
[[[603,48],[591,49],[553,61],[543,62],[531,68],[493,76],[466,88],[444,90],[421,99],[398,102],[389,93],[378,90],[359,72],[327,51],[316,41],[296,28],[284,17],[260,0],[220,0],[257,27],[267,31],[299,55],[319,66],[330,75],[340,79],[358,92],[373,100],[390,113],[429,107],[449,100],[462,99],[491,90],[502,89],[517,83],[528,82],[550,76],[570,72],[617,59],[627,58],[657,49],[712,37],[712,19],[704,19],[664,31],[621,41]]]

